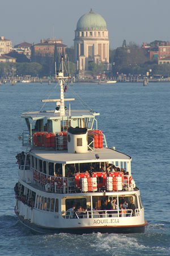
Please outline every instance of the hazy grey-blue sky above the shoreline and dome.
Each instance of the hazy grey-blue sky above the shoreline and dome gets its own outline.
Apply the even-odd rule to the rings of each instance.
[[[112,49],[122,46],[124,39],[139,45],[170,41],[170,0],[2,0],[0,36],[14,46],[54,35],[70,47],[78,19],[91,8],[107,22]]]

